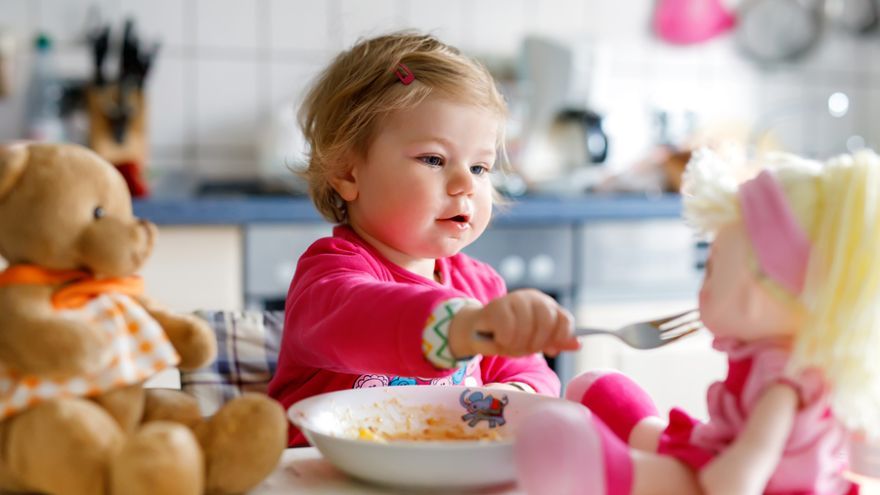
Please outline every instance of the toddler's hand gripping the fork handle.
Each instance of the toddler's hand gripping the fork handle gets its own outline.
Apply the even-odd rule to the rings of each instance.
[[[459,310],[449,328],[450,350],[456,357],[524,356],[535,352],[553,356],[580,348],[572,335],[572,320],[552,297],[522,289],[486,306]]]

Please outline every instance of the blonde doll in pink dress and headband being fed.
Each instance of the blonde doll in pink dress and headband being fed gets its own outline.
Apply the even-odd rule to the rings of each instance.
[[[570,404],[521,426],[528,493],[858,493],[847,428],[880,430],[880,157],[780,156],[742,184],[729,171],[699,153],[684,188],[687,220],[714,236],[700,313],[729,364],[709,420],[675,408],[664,424],[625,376],[576,377]]]

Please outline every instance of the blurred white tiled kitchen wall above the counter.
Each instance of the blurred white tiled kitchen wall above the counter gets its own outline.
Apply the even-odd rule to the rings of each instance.
[[[736,7],[737,0],[727,0]],[[658,42],[645,0],[0,0],[16,34],[17,92],[0,100],[0,140],[20,137],[30,40],[58,41],[65,75],[87,77],[89,12],[117,28],[134,16],[162,49],[148,80],[152,166],[205,174],[254,170],[262,129],[340,49],[400,28],[430,31],[465,51],[512,57],[527,33],[590,39],[601,54],[590,94],[612,137],[615,164],[650,144],[652,110],[693,111],[724,132],[772,127],[795,151],[843,151],[853,135],[880,146],[878,35],[829,32],[806,59],[761,69],[733,36],[694,46]],[[845,91],[851,112],[823,113]]]

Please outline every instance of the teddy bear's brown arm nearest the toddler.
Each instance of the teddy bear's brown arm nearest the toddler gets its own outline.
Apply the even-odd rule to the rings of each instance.
[[[174,314],[157,306],[146,308],[180,354],[180,369],[201,368],[217,356],[214,332],[203,320],[192,315]]]

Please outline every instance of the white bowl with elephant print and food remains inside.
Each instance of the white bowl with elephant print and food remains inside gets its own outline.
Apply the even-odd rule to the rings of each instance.
[[[547,401],[562,399],[482,387],[375,387],[316,395],[287,414],[325,459],[354,477],[413,488],[476,488],[514,481],[517,426]],[[360,437],[370,428],[379,435],[423,436],[429,419],[433,433],[496,438],[386,443]]]

